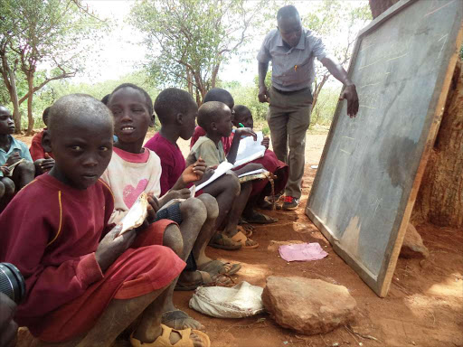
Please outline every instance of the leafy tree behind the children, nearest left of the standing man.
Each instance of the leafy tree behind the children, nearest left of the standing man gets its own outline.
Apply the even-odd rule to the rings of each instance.
[[[187,89],[202,103],[221,65],[249,42],[265,1],[143,0],[130,20],[146,34],[146,70],[162,86]]]

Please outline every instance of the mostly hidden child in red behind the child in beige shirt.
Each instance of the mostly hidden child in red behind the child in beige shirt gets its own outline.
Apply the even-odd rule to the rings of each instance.
[[[209,90],[207,92],[207,94],[205,95],[205,97],[204,97],[204,102],[208,102],[208,101],[220,101],[220,102],[224,103],[225,105],[227,105],[231,109],[231,114],[234,117],[234,109],[233,108],[234,108],[234,103],[235,102],[233,100],[233,97],[231,97],[231,94],[227,90],[220,89],[220,88],[213,88],[213,89]],[[231,118],[233,118],[233,117],[231,117]],[[198,134],[202,133],[200,129],[196,129],[195,132],[198,133]],[[228,155],[230,153],[230,151],[231,151],[231,145],[233,144],[233,142],[235,142],[235,143],[239,142],[239,139],[235,138],[235,136],[233,136],[233,134],[231,134],[231,136],[228,136],[226,138],[222,138],[222,141],[225,141],[225,144],[228,144],[228,145],[224,145],[225,154]],[[228,147],[228,150],[225,147]],[[264,157],[269,156],[269,155],[273,155],[273,153],[266,153],[266,155],[264,155]],[[253,160],[250,163],[260,164],[267,171],[269,171],[272,174],[275,174],[274,165],[273,164],[268,165],[269,163],[274,161],[274,159],[276,159],[276,156],[275,155],[273,155],[273,156],[274,156],[273,160],[268,160],[267,158],[258,158],[256,160]],[[266,166],[266,164],[267,164],[267,166]],[[271,192],[271,188],[269,187],[268,189],[266,189],[266,187],[269,187],[269,185],[268,185],[268,183],[266,181],[263,181],[263,180],[254,181],[252,183],[252,191],[250,192],[250,200],[247,202],[246,208],[244,209],[243,215],[242,215],[243,220],[246,220],[246,221],[251,222],[251,223],[260,223],[260,224],[269,224],[269,223],[273,223],[273,222],[277,221],[276,219],[273,219],[273,218],[271,218],[271,217],[269,217],[269,216],[267,216],[267,215],[265,215],[263,213],[260,213],[260,212],[254,210],[254,208],[256,207],[256,204],[258,202],[260,202],[261,206],[264,205],[264,207],[266,207],[266,209],[271,208],[271,206],[269,206],[269,203],[265,204],[265,202],[264,202],[264,198],[265,198],[266,193],[269,194]]]

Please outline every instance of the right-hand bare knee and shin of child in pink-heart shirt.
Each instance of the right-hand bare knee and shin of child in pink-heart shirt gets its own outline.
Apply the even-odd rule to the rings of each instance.
[[[213,238],[215,232],[215,220],[219,216],[219,206],[217,201],[213,196],[209,194],[201,194],[197,199],[203,202],[203,205],[206,209],[206,220],[203,223],[203,228],[201,229],[196,242],[194,242],[193,247],[193,256],[196,260],[196,264],[199,266],[212,261],[211,258],[208,258],[205,254],[205,249],[209,241]]]

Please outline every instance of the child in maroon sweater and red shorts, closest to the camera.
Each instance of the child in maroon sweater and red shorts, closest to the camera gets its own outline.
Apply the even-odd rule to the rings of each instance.
[[[166,290],[184,268],[172,249],[156,244],[173,222],[121,236],[119,226],[109,229],[114,198],[99,176],[112,134],[109,109],[88,95],[60,98],[50,109],[43,147],[55,165],[0,215],[0,261],[14,263],[26,281],[15,319],[43,342],[110,346],[139,317],[132,346],[165,346],[183,335],[208,346],[201,332],[160,324]],[[150,207],[146,221],[155,219]]]

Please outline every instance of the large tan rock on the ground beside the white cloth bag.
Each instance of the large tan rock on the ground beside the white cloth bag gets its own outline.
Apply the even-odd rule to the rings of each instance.
[[[279,325],[306,334],[349,324],[357,305],[345,286],[303,277],[268,277],[262,301]]]

